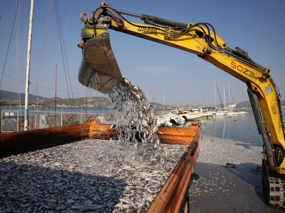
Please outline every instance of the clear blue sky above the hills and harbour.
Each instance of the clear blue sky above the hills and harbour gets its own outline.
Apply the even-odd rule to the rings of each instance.
[[[28,37],[30,1],[27,6],[26,0],[20,1],[12,31],[17,2],[18,0],[0,1],[1,77],[4,72],[0,90],[25,93],[26,37]],[[50,1],[35,0],[29,93],[47,98],[55,96],[55,64],[57,64],[56,96],[60,98],[86,96],[86,88],[77,79],[81,62],[81,49],[77,47],[77,43],[81,41],[80,33],[83,28],[80,14],[85,12],[90,16],[91,11],[98,8],[100,3],[101,1],[57,1],[62,30],[66,27],[63,42],[67,63],[66,61],[63,63],[54,3],[51,1],[51,17],[45,37]],[[285,96],[283,65],[285,1],[109,0],[107,3],[115,9],[134,14],[148,14],[183,23],[211,23],[217,35],[226,41],[229,47],[232,49],[240,47],[247,51],[255,62],[270,68],[271,76],[280,90],[281,99],[285,99],[283,97]],[[128,16],[126,18],[143,23],[139,18],[135,20]],[[122,75],[134,85],[140,86],[145,94],[148,87],[149,102],[163,103],[164,96],[165,104],[189,104],[191,100],[191,105],[213,105],[215,79],[220,93],[223,94],[224,87],[228,93],[229,82],[235,102],[248,100],[244,83],[194,54],[124,33],[112,30],[109,32],[112,49]],[[87,95],[105,96],[91,89],[88,89]],[[217,96],[216,101],[219,104],[218,99]]]

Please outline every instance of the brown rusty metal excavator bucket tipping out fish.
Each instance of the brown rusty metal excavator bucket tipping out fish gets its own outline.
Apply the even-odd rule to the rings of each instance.
[[[102,93],[124,80],[111,48],[109,33],[102,33],[86,41],[78,80],[84,86]]]

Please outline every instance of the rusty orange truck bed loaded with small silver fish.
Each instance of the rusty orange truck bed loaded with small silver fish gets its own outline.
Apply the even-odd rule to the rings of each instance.
[[[192,122],[189,128],[159,127],[158,132],[162,146],[179,156],[171,160],[172,167],[168,169],[142,166],[130,159],[131,164],[125,165],[128,156],[119,147],[115,127],[93,118],[81,125],[1,133],[0,210],[189,212],[189,187],[199,154],[201,124]],[[69,149],[57,152],[62,146]],[[80,150],[82,146],[85,151]],[[72,165],[69,152],[76,154]],[[106,173],[103,159],[112,161],[113,168],[108,169],[111,173]],[[100,171],[95,171],[95,164],[100,165]],[[129,179],[133,182],[129,183]],[[107,195],[116,198],[112,200]]]

